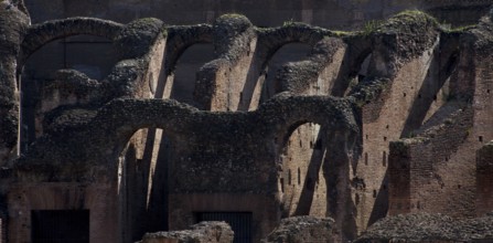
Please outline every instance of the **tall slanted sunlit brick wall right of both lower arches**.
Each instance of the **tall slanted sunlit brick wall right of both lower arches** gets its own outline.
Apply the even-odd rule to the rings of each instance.
[[[414,21],[400,22],[406,18]],[[362,154],[357,167],[353,167],[353,199],[357,207],[361,229],[371,225],[387,214],[388,197],[388,145],[392,140],[409,136],[406,134],[408,117],[416,108],[426,113],[428,107],[416,107],[419,99],[431,99],[421,94],[427,78],[433,75],[433,55],[438,52],[437,24],[425,15],[397,15],[384,29],[397,29],[395,34],[374,36],[369,56],[368,82],[375,76],[388,78],[385,91],[362,105]],[[422,35],[407,39],[409,30]],[[388,45],[387,43],[393,43]],[[411,51],[412,49],[412,51]],[[406,53],[406,54],[404,54]],[[420,120],[419,123],[422,123]],[[420,124],[418,124],[419,126]],[[369,211],[368,211],[369,210]]]

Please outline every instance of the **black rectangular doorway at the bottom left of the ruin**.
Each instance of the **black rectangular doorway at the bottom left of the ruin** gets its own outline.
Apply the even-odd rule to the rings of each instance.
[[[33,243],[89,243],[89,210],[32,210]]]

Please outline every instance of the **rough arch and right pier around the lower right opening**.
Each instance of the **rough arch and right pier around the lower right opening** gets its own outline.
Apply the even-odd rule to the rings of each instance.
[[[353,219],[355,208],[351,199],[350,168],[354,160],[354,150],[357,149],[360,133],[352,112],[352,103],[326,96],[280,95],[262,104],[258,110],[271,120],[275,137],[278,139],[289,138],[291,131],[300,124],[314,123],[324,127],[325,149],[330,155],[321,166],[326,187],[325,215],[335,219],[337,229],[343,229],[344,235],[355,234],[356,224]],[[286,145],[286,140],[283,144]],[[282,147],[278,146],[278,155],[281,151]],[[279,167],[279,161],[275,162]],[[294,180],[296,176],[297,171],[291,171]],[[278,181],[279,179],[278,175]],[[304,183],[309,183],[308,178],[304,179]],[[294,213],[307,214],[310,211],[306,207],[300,207]]]

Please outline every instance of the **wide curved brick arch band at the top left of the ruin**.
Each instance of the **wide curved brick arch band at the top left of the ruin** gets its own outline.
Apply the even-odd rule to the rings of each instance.
[[[95,18],[69,18],[34,24],[30,27],[21,43],[19,66],[21,68],[29,56],[52,41],[79,34],[114,40],[122,29],[124,24]]]

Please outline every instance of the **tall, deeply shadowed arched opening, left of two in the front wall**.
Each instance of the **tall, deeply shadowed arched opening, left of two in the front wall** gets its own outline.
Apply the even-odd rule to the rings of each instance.
[[[168,230],[171,137],[151,128],[137,130],[118,161],[118,205],[122,242],[136,242],[147,232]]]

